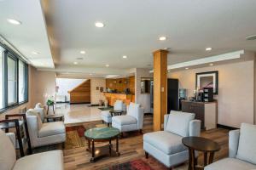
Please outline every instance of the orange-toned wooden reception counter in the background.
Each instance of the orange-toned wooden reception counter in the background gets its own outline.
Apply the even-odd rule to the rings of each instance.
[[[104,93],[106,98],[108,99],[108,105],[113,106],[115,100],[123,100],[125,105],[129,105],[130,102],[135,101],[135,95],[134,94],[113,94],[113,93]]]

